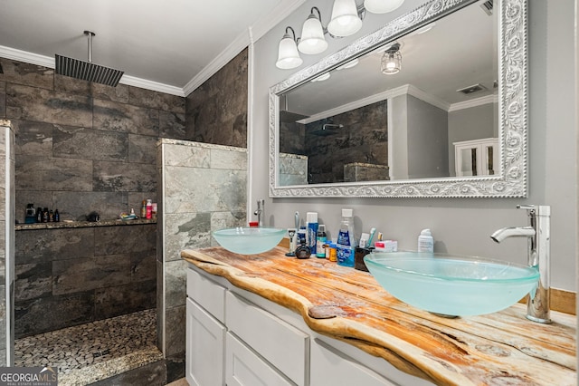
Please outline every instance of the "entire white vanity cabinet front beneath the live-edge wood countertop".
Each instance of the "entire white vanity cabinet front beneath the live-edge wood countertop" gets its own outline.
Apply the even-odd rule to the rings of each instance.
[[[427,383],[381,358],[315,333],[301,315],[195,265],[187,268],[186,312],[185,369],[190,386]]]

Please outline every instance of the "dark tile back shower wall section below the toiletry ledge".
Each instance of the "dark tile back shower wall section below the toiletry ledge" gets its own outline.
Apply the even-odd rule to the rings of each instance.
[[[157,225],[16,232],[15,337],[155,307]]]

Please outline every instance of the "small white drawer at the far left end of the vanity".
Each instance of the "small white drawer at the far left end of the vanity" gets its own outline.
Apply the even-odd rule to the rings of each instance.
[[[187,269],[187,296],[221,323],[225,321],[225,291],[223,286],[209,280],[193,268]]]

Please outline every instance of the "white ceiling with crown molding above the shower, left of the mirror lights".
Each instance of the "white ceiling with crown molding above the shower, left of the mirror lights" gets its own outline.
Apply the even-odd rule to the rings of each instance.
[[[250,27],[257,40],[304,1],[3,0],[0,56],[87,61],[89,30],[92,62],[124,71],[121,83],[186,95],[250,43]]]

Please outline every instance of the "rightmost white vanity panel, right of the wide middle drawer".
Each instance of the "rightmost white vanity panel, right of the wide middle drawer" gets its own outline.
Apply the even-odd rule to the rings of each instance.
[[[395,386],[346,355],[314,340],[310,346],[310,386]]]

